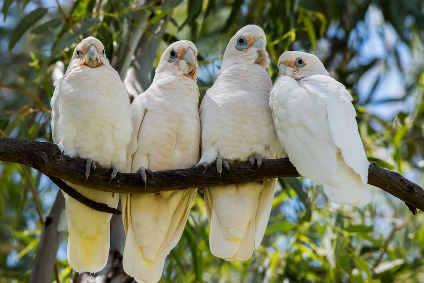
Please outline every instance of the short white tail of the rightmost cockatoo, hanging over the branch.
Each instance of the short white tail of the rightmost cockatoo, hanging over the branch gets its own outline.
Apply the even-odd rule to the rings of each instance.
[[[331,184],[323,184],[328,197],[338,204],[365,205],[372,201],[372,194],[361,176],[346,165],[343,158],[337,159],[337,178]]]

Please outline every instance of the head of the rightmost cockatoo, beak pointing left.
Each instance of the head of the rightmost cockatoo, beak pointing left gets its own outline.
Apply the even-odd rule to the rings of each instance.
[[[281,54],[278,59],[278,74],[297,81],[315,74],[330,76],[318,57],[300,51],[286,51]]]

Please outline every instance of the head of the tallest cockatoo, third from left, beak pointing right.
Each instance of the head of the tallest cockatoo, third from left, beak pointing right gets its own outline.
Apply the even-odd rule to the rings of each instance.
[[[267,38],[258,26],[247,25],[230,39],[222,58],[219,73],[234,64],[259,64],[264,68],[270,65],[270,58],[265,49]]]

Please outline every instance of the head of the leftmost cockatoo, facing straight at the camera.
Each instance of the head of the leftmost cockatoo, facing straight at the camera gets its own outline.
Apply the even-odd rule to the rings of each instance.
[[[106,58],[103,43],[97,38],[89,36],[75,48],[68,70],[76,66],[95,68],[104,64],[109,65],[109,60]]]

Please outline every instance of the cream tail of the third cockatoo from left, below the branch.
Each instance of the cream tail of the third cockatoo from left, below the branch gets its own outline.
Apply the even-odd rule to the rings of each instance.
[[[258,248],[271,214],[276,179],[207,189],[205,202],[211,252],[225,260],[246,260]]]

